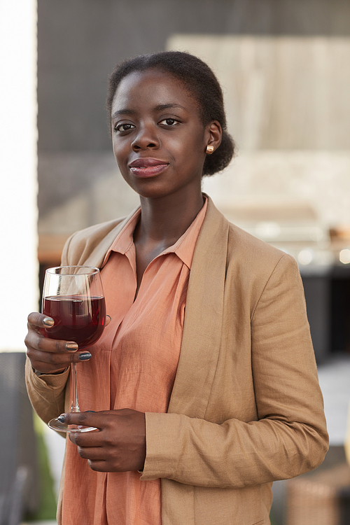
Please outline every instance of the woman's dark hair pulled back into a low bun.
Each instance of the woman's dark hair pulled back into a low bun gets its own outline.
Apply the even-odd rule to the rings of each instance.
[[[111,119],[111,107],[118,86],[129,73],[160,69],[181,80],[200,109],[203,125],[218,120],[223,130],[220,146],[212,155],[207,155],[203,175],[214,175],[228,166],[235,153],[235,143],[228,134],[223,92],[210,67],[200,58],[188,52],[165,51],[153,55],[140,55],[125,60],[114,69],[109,77],[106,109]]]

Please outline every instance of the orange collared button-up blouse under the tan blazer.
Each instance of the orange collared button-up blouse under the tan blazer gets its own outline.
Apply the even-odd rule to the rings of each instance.
[[[180,239],[148,265],[137,290],[134,228],[138,210],[102,265],[112,320],[92,359],[78,370],[80,409],[167,412],[179,361],[195,244],[207,200]],[[67,440],[62,525],[161,525],[160,479],[139,472],[94,472]]]

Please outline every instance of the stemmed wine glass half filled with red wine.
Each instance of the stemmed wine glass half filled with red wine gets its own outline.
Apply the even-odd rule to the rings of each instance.
[[[43,285],[43,314],[55,324],[44,328],[51,339],[74,341],[79,350],[91,346],[101,337],[106,323],[106,305],[98,268],[60,266],[48,268]],[[80,412],[76,363],[71,363],[71,412]],[[89,432],[94,427],[66,425],[51,419],[48,426],[59,432]]]

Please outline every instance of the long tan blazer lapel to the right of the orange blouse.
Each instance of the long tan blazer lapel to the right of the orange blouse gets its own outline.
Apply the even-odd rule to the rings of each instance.
[[[221,344],[229,223],[209,198],[190,270],[179,366],[168,412],[203,418]]]

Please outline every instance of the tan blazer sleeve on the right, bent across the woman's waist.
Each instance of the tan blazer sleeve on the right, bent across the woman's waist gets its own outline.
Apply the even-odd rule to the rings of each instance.
[[[323,399],[302,282],[289,256],[279,260],[253,310],[251,366],[258,420],[216,424],[146,414],[141,479],[240,488],[295,477],[323,461]]]

